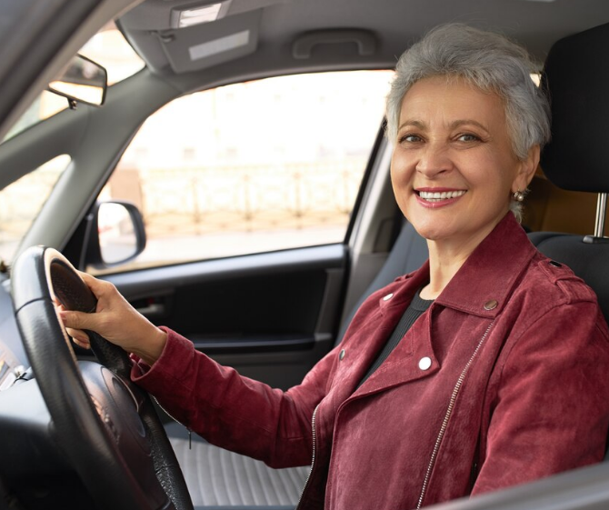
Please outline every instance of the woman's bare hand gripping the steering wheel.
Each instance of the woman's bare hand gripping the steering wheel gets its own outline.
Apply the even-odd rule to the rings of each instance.
[[[95,331],[108,342],[140,356],[147,364],[155,363],[165,347],[165,332],[137,312],[115,285],[86,273],[79,274],[97,298],[97,307],[94,314],[60,309],[59,315],[75,344],[90,348],[84,330]]]

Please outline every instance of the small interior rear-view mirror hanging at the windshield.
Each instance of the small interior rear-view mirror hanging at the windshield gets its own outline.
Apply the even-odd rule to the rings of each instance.
[[[104,105],[108,74],[104,67],[83,55],[76,55],[63,75],[48,85],[48,90],[70,101],[87,105]]]

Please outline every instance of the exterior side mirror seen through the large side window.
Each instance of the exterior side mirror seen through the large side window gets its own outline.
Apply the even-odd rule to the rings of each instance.
[[[131,202],[113,200],[95,205],[85,262],[95,269],[125,264],[146,245],[144,220]]]

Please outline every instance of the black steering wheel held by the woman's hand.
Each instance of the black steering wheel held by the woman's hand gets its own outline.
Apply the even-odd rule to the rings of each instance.
[[[131,360],[87,332],[99,363],[77,361],[57,314],[95,311],[96,299],[64,255],[35,246],[12,269],[15,316],[53,421],[53,436],[99,508],[192,510],[184,475]]]

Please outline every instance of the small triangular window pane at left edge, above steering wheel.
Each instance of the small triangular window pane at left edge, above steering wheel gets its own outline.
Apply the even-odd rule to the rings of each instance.
[[[70,161],[69,155],[58,155],[0,190],[0,258],[6,263]]]

